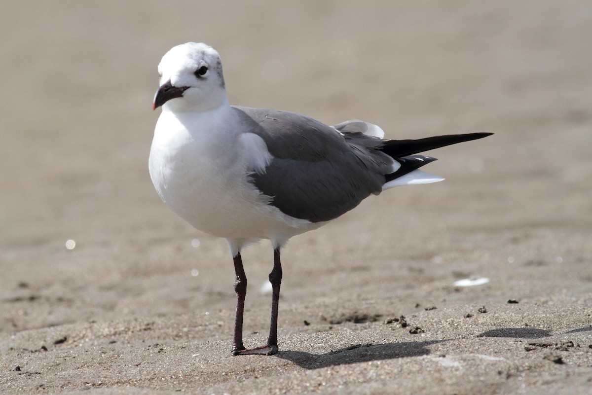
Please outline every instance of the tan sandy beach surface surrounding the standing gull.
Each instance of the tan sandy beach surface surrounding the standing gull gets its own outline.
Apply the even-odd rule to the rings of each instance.
[[[0,393],[592,394],[589,1],[5,3]],[[156,65],[186,41],[234,104],[496,133],[289,242],[273,357],[230,356],[226,242],[149,179]],[[269,243],[243,258],[248,347]]]

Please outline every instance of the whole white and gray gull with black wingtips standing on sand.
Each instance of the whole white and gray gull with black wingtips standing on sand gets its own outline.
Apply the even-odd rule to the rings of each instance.
[[[237,296],[232,353],[278,352],[279,252],[289,238],[317,229],[369,195],[443,180],[419,170],[436,160],[417,153],[491,133],[383,140],[363,121],[327,126],[287,111],[231,106],[220,56],[202,43],[169,50],[158,66],[162,106],[150,148],[150,178],[163,202],[192,226],[226,238]],[[274,248],[267,344],[243,345],[247,290],[240,251],[260,239]]]

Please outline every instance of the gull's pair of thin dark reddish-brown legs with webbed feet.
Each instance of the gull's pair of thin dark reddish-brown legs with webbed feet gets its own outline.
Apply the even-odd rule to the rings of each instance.
[[[239,266],[242,269],[243,264],[240,261],[240,255],[237,255],[239,260]],[[236,279],[237,282],[239,281],[239,271],[236,269],[237,267],[237,259],[234,258],[234,268],[236,270]],[[244,276],[244,271],[242,271],[242,278],[244,279],[245,290],[246,293],[246,276]],[[261,347],[252,348],[252,349],[244,349],[243,342],[242,342],[242,329],[243,329],[243,307],[244,307],[244,293],[242,297],[242,301],[240,299],[239,291],[237,291],[237,303],[236,303],[236,322],[234,324],[234,345],[233,345],[233,354],[234,355],[247,355],[247,354],[265,354],[265,355],[274,355],[278,353],[278,304],[279,304],[279,286],[282,283],[282,264],[279,261],[279,247],[275,248],[274,250],[274,268],[269,273],[269,282],[271,283],[272,287],[272,299],[271,299],[271,325],[269,326],[269,338],[267,340],[267,344]],[[234,283],[234,287],[236,289],[236,284]],[[242,302],[242,303],[241,303]],[[240,305],[240,322],[239,322],[239,305]],[[240,325],[240,326],[239,326]],[[238,328],[238,329],[237,329]],[[237,339],[239,341],[237,342]],[[240,348],[237,348],[237,345],[240,345]]]

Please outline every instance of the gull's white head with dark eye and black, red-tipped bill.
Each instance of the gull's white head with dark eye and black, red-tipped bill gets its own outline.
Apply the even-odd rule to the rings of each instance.
[[[203,43],[171,48],[158,65],[160,88],[153,108],[172,111],[207,111],[227,101],[222,61],[218,52]]]

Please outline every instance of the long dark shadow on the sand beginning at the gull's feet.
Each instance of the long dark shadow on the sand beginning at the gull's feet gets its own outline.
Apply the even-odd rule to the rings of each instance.
[[[430,349],[427,346],[443,341],[446,340],[356,344],[324,354],[311,354],[304,351],[280,351],[276,354],[276,357],[292,361],[305,369],[318,369],[336,365],[355,364],[358,362],[419,357],[420,355],[430,354]]]

